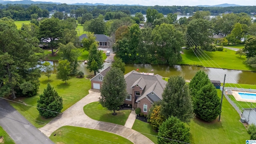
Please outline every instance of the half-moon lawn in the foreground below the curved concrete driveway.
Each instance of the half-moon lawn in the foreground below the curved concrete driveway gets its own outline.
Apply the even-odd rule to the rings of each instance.
[[[75,126],[62,126],[52,133],[50,139],[55,144],[133,144],[116,134]]]

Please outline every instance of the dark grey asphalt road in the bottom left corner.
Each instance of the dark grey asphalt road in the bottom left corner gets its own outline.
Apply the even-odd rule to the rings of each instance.
[[[54,144],[6,100],[0,98],[0,126],[16,144]]]

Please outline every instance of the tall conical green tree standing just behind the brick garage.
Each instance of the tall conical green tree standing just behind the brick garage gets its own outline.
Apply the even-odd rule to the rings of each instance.
[[[96,72],[99,72],[99,70],[103,68],[103,63],[102,54],[100,50],[98,50],[97,44],[93,43],[89,50],[87,69],[89,72],[93,71],[94,75],[96,75]]]

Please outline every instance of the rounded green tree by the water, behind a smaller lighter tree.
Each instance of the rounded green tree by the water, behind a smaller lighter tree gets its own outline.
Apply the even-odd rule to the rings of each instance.
[[[68,60],[70,62],[70,69],[72,75],[76,74],[78,67],[78,56],[80,56],[80,50],[74,46],[72,42],[64,45],[60,44],[59,54],[62,60]]]

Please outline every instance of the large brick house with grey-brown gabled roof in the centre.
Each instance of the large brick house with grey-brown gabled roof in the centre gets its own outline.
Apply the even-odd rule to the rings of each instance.
[[[124,75],[128,96],[124,104],[131,104],[132,108],[140,108],[148,114],[152,104],[162,99],[166,81],[162,76],[153,73],[140,73],[135,70]]]

